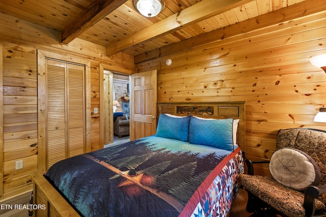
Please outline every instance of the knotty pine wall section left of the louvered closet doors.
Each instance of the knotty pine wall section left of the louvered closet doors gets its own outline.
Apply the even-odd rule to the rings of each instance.
[[[26,48],[26,47],[25,47]],[[30,158],[36,157],[37,146],[37,91],[35,51],[17,47],[5,42],[5,59],[2,80],[3,105],[3,141],[4,141],[4,192],[7,198],[32,189],[30,172],[36,163]],[[23,160],[23,169],[15,170],[15,162]],[[12,165],[12,166],[10,166]]]

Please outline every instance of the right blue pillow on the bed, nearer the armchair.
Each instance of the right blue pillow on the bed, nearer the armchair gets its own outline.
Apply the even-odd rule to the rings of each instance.
[[[233,151],[233,119],[199,119],[189,123],[189,143]]]

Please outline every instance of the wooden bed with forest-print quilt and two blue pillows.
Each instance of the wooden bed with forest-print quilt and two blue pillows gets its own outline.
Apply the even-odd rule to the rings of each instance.
[[[243,173],[244,102],[157,108],[156,135],[34,173],[33,203],[46,205],[36,216],[226,216]]]

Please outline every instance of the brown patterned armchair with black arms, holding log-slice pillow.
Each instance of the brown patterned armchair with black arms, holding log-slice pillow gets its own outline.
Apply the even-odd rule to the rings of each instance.
[[[284,156],[285,150],[289,151],[287,156]],[[293,159],[296,157],[291,154],[292,151],[300,156],[298,159],[304,158],[295,166]],[[248,192],[247,211],[254,212],[253,216],[268,216],[268,212],[291,217],[326,216],[326,131],[303,128],[280,130],[274,154],[270,161],[246,159],[248,174],[241,174],[239,181]],[[272,177],[254,175],[253,165],[262,163],[270,163]],[[284,168],[276,168],[278,164]],[[302,176],[297,175],[306,166],[310,169],[306,169]],[[282,170],[283,176],[278,177]]]

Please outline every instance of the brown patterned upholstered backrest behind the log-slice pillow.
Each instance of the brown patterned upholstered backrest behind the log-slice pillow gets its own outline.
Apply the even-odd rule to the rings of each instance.
[[[276,150],[291,147],[305,153],[317,163],[321,180],[319,185],[326,184],[326,131],[306,128],[280,130],[276,141]],[[318,197],[326,204],[326,193]]]

